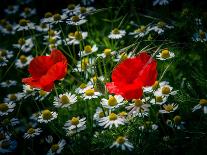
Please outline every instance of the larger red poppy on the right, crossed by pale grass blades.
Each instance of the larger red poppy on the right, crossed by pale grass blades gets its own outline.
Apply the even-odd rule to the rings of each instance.
[[[157,78],[157,62],[146,52],[123,60],[112,72],[112,82],[106,83],[109,93],[125,99],[139,99],[142,87],[151,86]]]

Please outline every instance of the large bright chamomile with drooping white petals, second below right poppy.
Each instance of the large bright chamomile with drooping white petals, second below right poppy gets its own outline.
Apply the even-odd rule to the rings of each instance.
[[[106,117],[102,117],[98,124],[99,126],[103,126],[104,128],[111,129],[113,125],[117,128],[119,125],[124,125],[125,119],[115,113],[110,113]]]

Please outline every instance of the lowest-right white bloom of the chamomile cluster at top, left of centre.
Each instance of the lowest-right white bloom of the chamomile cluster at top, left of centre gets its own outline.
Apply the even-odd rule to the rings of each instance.
[[[82,25],[82,24],[84,24],[84,23],[86,23],[86,22],[87,22],[87,20],[86,20],[85,17],[82,16],[82,15],[74,15],[74,16],[71,16],[71,17],[66,21],[66,23],[67,23],[68,25],[75,25],[75,26],[77,26],[77,25]]]

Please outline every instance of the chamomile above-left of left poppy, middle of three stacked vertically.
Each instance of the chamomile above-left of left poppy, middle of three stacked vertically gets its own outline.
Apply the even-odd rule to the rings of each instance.
[[[34,47],[34,43],[32,38],[28,38],[26,40],[24,38],[19,38],[18,44],[13,44],[13,47],[21,49],[24,53],[28,53]]]

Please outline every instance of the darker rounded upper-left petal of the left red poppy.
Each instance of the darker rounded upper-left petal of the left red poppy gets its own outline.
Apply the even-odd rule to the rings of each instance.
[[[34,79],[38,79],[46,74],[53,64],[54,62],[49,56],[38,56],[31,61],[29,65],[29,73]]]

